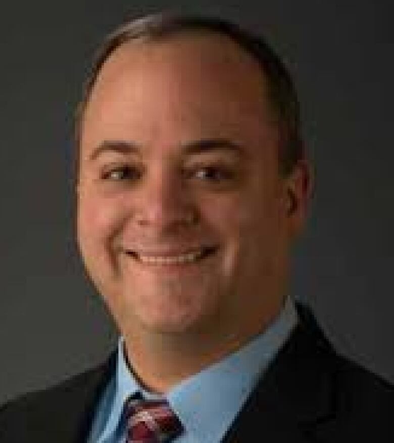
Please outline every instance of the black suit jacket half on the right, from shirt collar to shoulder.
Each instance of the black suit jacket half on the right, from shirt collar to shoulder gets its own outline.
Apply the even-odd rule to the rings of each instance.
[[[394,441],[394,387],[339,355],[311,311],[299,323],[230,428],[227,442]],[[367,438],[367,439],[366,439]]]

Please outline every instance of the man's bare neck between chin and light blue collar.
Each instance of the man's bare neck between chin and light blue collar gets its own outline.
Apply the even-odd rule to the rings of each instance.
[[[132,362],[130,369],[147,390],[165,393],[262,333],[279,314],[279,301],[264,314],[249,313],[238,326],[225,327],[216,321],[211,328],[183,333],[157,332],[141,326],[122,328],[127,359]]]

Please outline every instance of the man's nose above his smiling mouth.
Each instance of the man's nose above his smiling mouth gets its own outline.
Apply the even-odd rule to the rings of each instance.
[[[134,221],[163,233],[195,224],[198,212],[190,193],[175,173],[160,172],[141,185]]]

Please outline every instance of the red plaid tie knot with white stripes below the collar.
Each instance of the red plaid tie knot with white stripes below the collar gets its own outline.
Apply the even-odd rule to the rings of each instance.
[[[167,443],[182,432],[181,422],[165,400],[131,399],[126,419],[126,443]]]

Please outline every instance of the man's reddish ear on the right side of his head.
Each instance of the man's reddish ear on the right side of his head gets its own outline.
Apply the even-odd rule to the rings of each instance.
[[[314,174],[307,160],[300,160],[288,174],[286,181],[286,215],[290,237],[302,231],[314,189]]]

